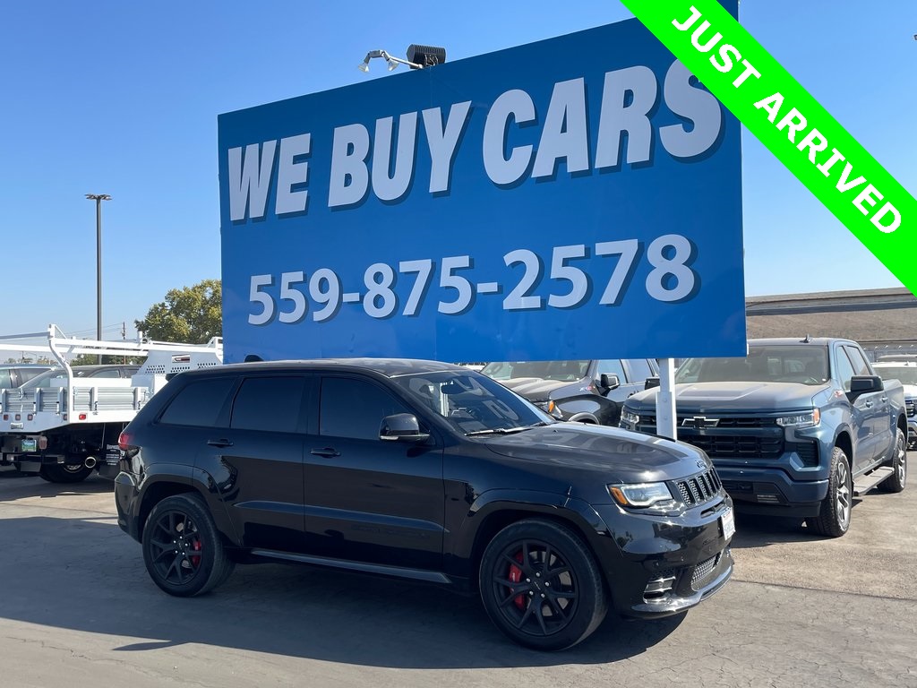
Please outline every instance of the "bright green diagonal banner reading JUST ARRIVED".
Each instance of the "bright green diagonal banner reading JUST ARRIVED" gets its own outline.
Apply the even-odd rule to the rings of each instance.
[[[917,201],[717,0],[622,0],[908,289]]]

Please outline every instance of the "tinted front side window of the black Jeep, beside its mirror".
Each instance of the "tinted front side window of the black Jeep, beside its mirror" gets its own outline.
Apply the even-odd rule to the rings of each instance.
[[[411,413],[392,394],[365,380],[322,380],[319,433],[337,438],[379,439],[382,418]]]

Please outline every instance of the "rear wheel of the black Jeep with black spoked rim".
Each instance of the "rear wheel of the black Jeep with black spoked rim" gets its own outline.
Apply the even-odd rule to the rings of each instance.
[[[155,505],[142,543],[149,577],[176,597],[204,594],[226,581],[234,568],[214,519],[195,494],[176,494]]]

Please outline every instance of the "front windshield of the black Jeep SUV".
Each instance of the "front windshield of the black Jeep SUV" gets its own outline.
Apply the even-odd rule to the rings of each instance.
[[[553,422],[502,384],[474,372],[418,372],[395,375],[392,382],[463,435],[501,434]]]

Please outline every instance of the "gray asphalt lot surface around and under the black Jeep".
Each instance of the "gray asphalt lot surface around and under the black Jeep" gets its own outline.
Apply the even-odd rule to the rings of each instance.
[[[3,685],[917,686],[914,484],[856,502],[839,539],[740,516],[720,594],[662,621],[610,617],[557,654],[510,644],[475,599],[337,571],[239,567],[171,598],[111,487],[0,468]]]

